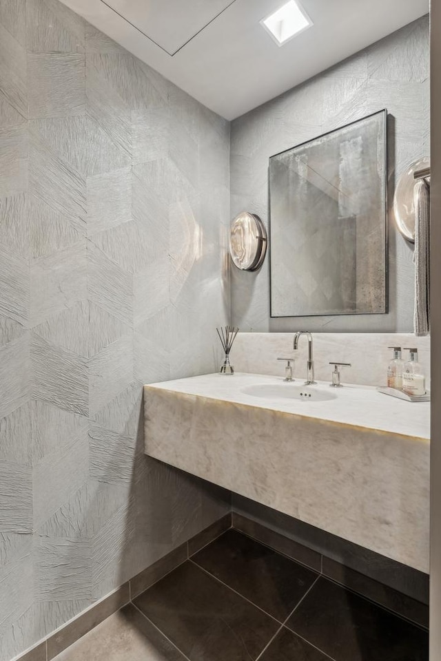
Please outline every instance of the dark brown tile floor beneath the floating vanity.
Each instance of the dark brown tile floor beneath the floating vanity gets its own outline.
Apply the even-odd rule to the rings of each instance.
[[[424,629],[230,529],[57,661],[427,661],[428,655]]]

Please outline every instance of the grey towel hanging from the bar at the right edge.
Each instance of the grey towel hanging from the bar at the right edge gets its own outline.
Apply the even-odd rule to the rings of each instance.
[[[424,181],[415,185],[415,335],[430,333],[430,188]]]

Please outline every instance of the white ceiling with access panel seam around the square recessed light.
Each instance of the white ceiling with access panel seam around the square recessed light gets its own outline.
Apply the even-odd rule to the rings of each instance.
[[[302,0],[314,25],[279,47],[259,24],[285,0],[63,0],[227,119],[429,12],[429,0]]]

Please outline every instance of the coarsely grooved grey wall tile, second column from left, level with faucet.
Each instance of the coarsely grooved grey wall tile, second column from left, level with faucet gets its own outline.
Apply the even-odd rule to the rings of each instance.
[[[32,336],[34,399],[88,415],[88,361]]]

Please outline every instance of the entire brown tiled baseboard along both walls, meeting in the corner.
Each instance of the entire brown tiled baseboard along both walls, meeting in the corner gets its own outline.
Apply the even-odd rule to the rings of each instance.
[[[87,611],[83,611],[67,625],[55,631],[47,639],[39,642],[30,651],[19,656],[16,661],[52,661],[63,650],[70,647],[85,633],[91,631],[96,625],[108,618],[112,613],[123,608],[136,596],[161,580],[178,565],[190,558],[204,546],[211,543],[229,527],[234,527],[249,537],[252,537],[279,553],[282,553],[302,565],[307,565],[319,571],[327,578],[345,585],[348,589],[361,594],[365,598],[378,603],[382,607],[397,613],[401,617],[416,622],[422,627],[428,627],[429,609],[427,605],[406,596],[399,591],[384,585],[369,576],[360,574],[341,563],[332,560],[320,552],[311,549],[297,541],[276,532],[269,527],[232,512],[205,528],[203,531],[189,539],[181,546],[147,567],[140,574],[124,583],[119,589]]]

